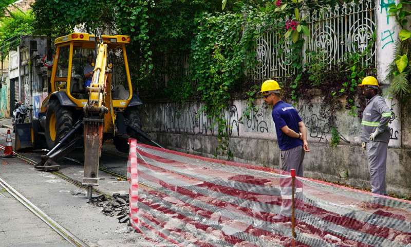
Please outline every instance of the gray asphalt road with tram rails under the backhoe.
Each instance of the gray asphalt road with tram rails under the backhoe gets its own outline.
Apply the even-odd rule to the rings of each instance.
[[[0,127],[4,126],[0,120]],[[0,144],[5,145],[7,129],[0,128]],[[14,134],[12,133],[14,137]],[[127,154],[116,156],[109,143],[100,158],[100,166],[120,172],[126,177]],[[1,150],[3,152],[3,150]],[[69,156],[82,160],[82,148]],[[40,160],[44,151],[25,153],[34,161]],[[111,154],[109,154],[111,153]],[[2,154],[0,154],[2,155]],[[82,181],[83,165],[65,158],[58,161],[60,172]],[[128,182],[99,172],[97,189],[113,193],[128,193]],[[89,246],[155,246],[133,227],[120,224],[116,217],[105,216],[101,207],[88,204],[87,191],[61,179],[51,172],[35,170],[32,164],[20,158],[0,157],[0,178],[39,207],[54,221],[77,236]],[[3,188],[2,188],[3,189]],[[71,246],[49,226],[35,217],[5,190],[0,190],[0,247],[2,246]]]

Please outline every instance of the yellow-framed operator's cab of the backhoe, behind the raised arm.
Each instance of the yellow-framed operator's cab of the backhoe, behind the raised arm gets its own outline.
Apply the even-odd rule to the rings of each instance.
[[[108,60],[113,65],[113,71],[108,74],[111,78],[107,81],[111,82],[110,84],[114,92],[118,87],[122,91],[115,93],[114,103],[127,104],[133,94],[125,50],[128,37],[102,36],[102,39],[107,44],[110,56]],[[120,42],[117,42],[117,40]],[[82,107],[82,104],[88,99],[87,85],[85,83],[89,78],[85,78],[84,72],[89,72],[90,68],[94,68],[97,57],[95,37],[87,33],[72,33],[71,39],[70,36],[66,37],[66,39],[59,38],[56,40],[55,45],[57,46],[57,56],[55,59],[57,66],[53,68],[52,72],[51,91],[65,91],[74,103]],[[112,89],[107,88],[107,93]],[[116,102],[116,100],[122,101]]]

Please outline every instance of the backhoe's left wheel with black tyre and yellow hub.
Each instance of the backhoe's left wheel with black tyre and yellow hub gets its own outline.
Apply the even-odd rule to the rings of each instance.
[[[46,111],[46,143],[52,149],[73,127],[72,112],[60,105],[58,100],[50,101]]]

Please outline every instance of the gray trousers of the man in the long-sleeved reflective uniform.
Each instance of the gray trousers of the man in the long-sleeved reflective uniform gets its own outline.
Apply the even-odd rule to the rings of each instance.
[[[387,168],[388,143],[369,142],[366,145],[368,171],[371,177],[371,192],[387,196],[385,173]]]

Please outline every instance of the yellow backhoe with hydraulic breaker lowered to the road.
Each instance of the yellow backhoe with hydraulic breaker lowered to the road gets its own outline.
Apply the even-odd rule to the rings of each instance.
[[[141,131],[125,45],[129,37],[71,33],[55,40],[51,93],[43,101],[38,119],[16,126],[16,147],[50,151],[36,169],[55,170],[58,158],[84,145],[83,185],[98,186],[103,139],[113,138],[116,148],[128,152],[128,138],[151,140]],[[90,59],[91,58],[91,59]],[[95,64],[91,63],[95,60]],[[91,66],[92,78],[85,67]],[[91,82],[87,82],[90,80]],[[30,138],[31,137],[31,138]]]

